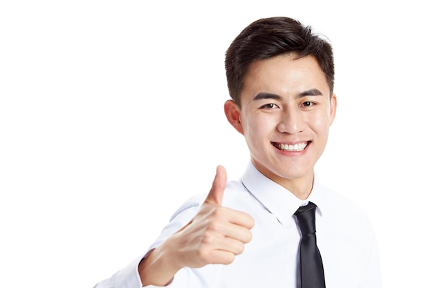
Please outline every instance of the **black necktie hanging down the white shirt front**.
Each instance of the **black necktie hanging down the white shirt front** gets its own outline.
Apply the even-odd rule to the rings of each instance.
[[[295,212],[302,232],[300,245],[302,288],[325,287],[322,257],[315,237],[315,207],[313,202],[309,202]]]

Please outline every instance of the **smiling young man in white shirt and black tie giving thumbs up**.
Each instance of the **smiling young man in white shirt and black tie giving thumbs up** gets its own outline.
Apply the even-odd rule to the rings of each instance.
[[[225,68],[225,115],[251,155],[245,174],[226,184],[218,166],[208,195],[183,204],[144,257],[96,287],[305,287],[315,272],[302,266],[313,261],[300,252],[308,236],[297,210],[308,203],[321,287],[381,287],[367,216],[314,174],[337,107],[330,44],[294,19],[259,19],[234,39]]]

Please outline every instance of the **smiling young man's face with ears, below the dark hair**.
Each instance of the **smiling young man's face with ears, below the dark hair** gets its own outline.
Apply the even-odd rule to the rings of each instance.
[[[312,56],[280,55],[254,62],[241,93],[241,108],[228,101],[225,113],[248,144],[252,162],[282,184],[313,179],[324,151],[336,99]]]

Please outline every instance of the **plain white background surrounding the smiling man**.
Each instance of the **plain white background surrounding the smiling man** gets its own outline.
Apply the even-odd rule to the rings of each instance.
[[[1,287],[93,287],[207,193],[217,164],[237,179],[248,153],[223,115],[224,53],[280,15],[334,46],[338,113],[317,173],[369,213],[384,287],[430,285],[430,12],[421,0],[2,1]]]

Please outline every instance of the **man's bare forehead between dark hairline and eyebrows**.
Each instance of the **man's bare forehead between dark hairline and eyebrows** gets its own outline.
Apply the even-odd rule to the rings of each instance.
[[[324,95],[330,93],[326,75],[315,57],[285,54],[250,64],[243,81],[241,102],[252,99],[257,93],[292,95],[303,90],[317,89]]]

